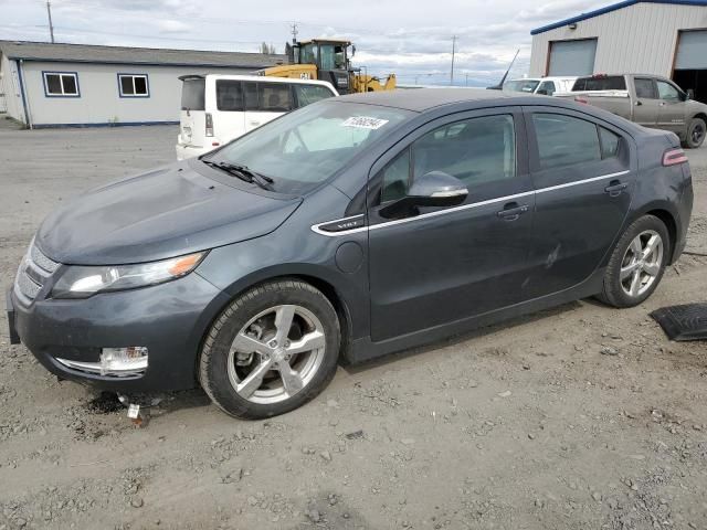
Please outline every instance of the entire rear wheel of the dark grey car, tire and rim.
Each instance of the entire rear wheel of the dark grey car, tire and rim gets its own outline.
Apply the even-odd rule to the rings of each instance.
[[[671,253],[665,223],[644,215],[623,233],[604,273],[599,298],[613,307],[633,307],[648,298],[663,277]]]

